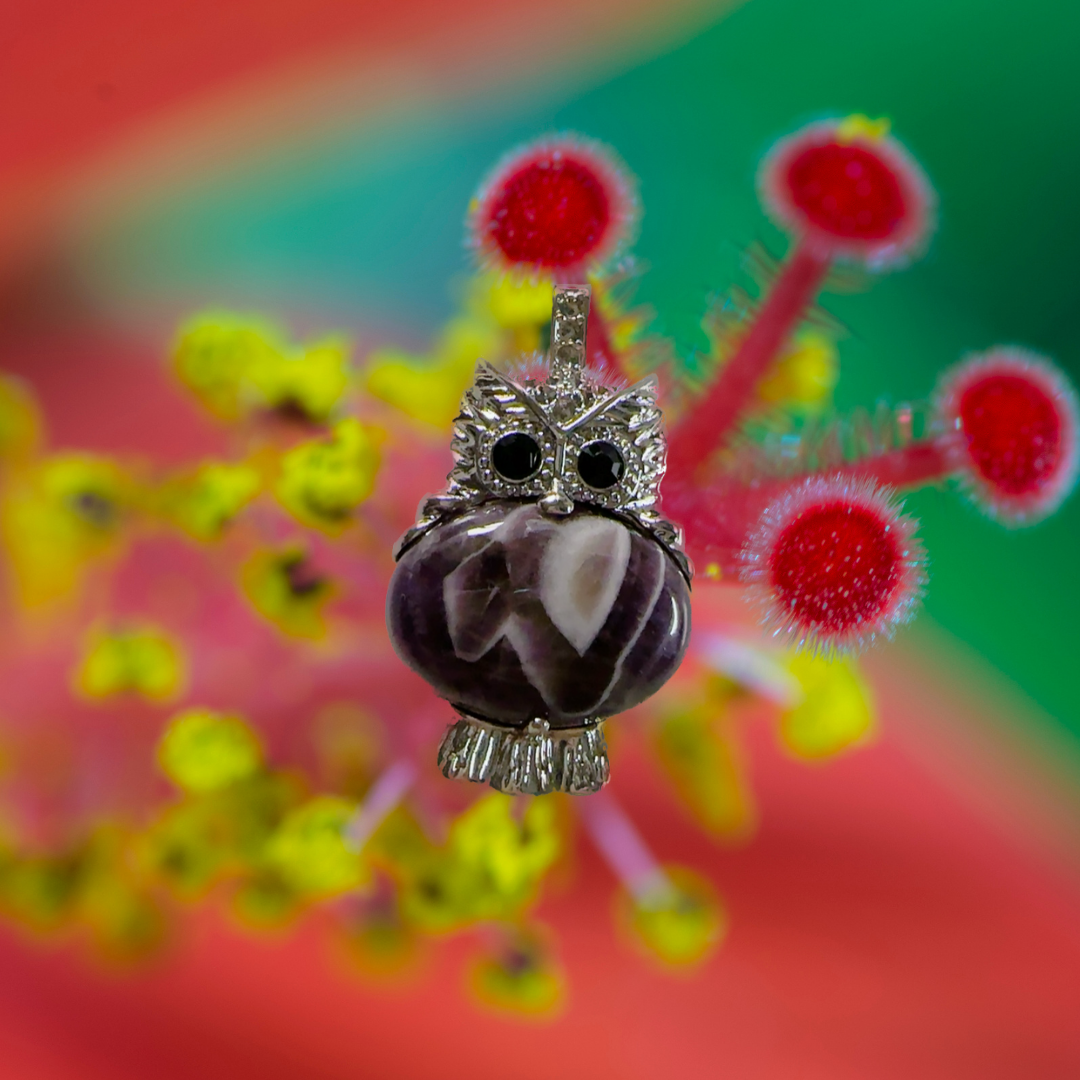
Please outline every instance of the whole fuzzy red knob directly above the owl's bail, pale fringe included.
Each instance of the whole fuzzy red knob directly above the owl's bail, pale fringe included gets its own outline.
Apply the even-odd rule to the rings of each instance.
[[[588,274],[633,239],[637,200],[616,156],[598,143],[549,136],[496,165],[469,212],[469,242],[502,270]]]

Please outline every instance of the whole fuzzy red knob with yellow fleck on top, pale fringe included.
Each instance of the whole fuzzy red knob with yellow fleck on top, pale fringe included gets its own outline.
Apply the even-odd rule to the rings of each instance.
[[[933,191],[887,131],[848,117],[781,139],[758,177],[773,219],[828,258],[883,269],[917,254],[933,228]]]

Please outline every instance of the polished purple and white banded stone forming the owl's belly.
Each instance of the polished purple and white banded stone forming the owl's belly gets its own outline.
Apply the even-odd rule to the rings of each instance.
[[[402,660],[463,712],[570,727],[631,708],[674,674],[690,596],[661,544],[622,522],[500,500],[405,552],[387,625]]]

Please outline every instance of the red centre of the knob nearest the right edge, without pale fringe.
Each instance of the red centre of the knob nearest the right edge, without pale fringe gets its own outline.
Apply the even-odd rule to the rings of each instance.
[[[960,424],[975,468],[1009,495],[1038,491],[1061,463],[1057,407],[1028,379],[991,375],[968,387]]]

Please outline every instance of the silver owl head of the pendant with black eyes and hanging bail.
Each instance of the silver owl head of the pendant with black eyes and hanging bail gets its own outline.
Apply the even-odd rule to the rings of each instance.
[[[678,529],[656,507],[666,441],[649,376],[604,384],[585,366],[590,289],[556,286],[548,365],[511,378],[482,363],[454,421],[446,491],[426,499],[397,556],[448,514],[491,499],[536,500],[553,516],[593,505],[653,535],[689,578]]]

